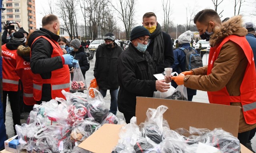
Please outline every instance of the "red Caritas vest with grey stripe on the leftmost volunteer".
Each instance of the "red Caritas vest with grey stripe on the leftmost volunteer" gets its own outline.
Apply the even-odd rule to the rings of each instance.
[[[4,91],[18,91],[19,76],[15,72],[17,50],[9,50],[6,44],[2,46],[2,60],[3,60],[3,90]]]

